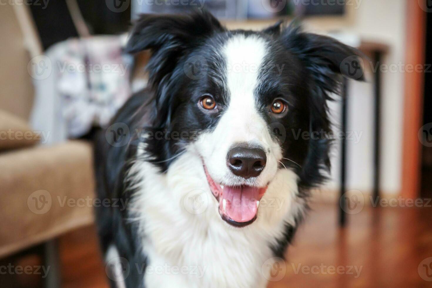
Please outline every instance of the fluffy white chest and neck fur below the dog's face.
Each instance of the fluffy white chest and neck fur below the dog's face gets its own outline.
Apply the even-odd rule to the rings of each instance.
[[[217,212],[199,157],[185,152],[160,174],[147,162],[136,163],[137,193],[130,217],[141,229],[147,256],[145,287],[265,287],[286,222],[302,213],[296,176],[281,170],[270,184],[257,220],[234,228]],[[287,193],[289,191],[289,193]],[[267,277],[268,278],[268,277]]]

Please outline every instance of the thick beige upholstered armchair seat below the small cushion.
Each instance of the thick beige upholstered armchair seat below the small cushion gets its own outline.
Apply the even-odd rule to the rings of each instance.
[[[88,142],[0,153],[0,170],[0,257],[93,222]]]

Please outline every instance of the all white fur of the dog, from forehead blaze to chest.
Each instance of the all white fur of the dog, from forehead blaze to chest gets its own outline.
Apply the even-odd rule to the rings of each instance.
[[[224,53],[227,63],[261,65],[266,42],[257,36],[235,36]],[[264,288],[269,271],[264,267],[262,272],[262,266],[273,257],[270,245],[283,237],[286,222],[294,225],[294,216],[303,213],[305,203],[297,197],[297,176],[290,170],[278,170],[282,152],[271,142],[267,124],[255,108],[257,73],[228,72],[227,80],[229,107],[213,132],[203,133],[189,145],[166,174],[145,161],[137,161],[130,171],[137,175],[130,220],[140,224],[148,265],[199,266],[204,271],[202,277],[166,270],[146,273],[147,288]],[[270,185],[261,199],[257,220],[244,228],[222,220],[202,165],[203,159],[216,182],[233,185],[241,181],[226,167],[226,154],[235,142],[259,144],[267,152],[267,165],[254,184]],[[194,210],[197,203],[190,199],[199,199],[204,209]],[[280,205],[273,207],[272,200]]]

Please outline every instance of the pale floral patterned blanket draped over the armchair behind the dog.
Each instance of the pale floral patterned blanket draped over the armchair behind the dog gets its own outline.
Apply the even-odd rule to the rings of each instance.
[[[48,143],[104,126],[129,98],[133,57],[122,53],[123,43],[121,36],[74,38],[32,59],[31,122],[35,130],[50,131]]]

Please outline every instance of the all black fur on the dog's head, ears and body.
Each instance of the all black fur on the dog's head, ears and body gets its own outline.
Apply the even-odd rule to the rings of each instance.
[[[330,139],[302,139],[295,135],[299,131],[330,131],[327,101],[331,100],[330,93],[340,91],[340,75],[350,77],[342,64],[347,57],[359,55],[355,49],[326,36],[302,32],[295,25],[285,27],[280,22],[262,32],[227,31],[210,13],[202,11],[184,16],[143,15],[131,32],[126,50],[130,53],[152,51],[147,65],[150,85],[133,95],[112,120],[112,123],[126,123],[130,128],[128,144],[111,146],[104,131],[95,145],[99,198],[133,201],[134,191],[125,182],[125,174],[135,160],[140,142],[146,142],[150,161],[164,173],[173,161],[170,159],[188,142],[194,141],[193,135],[216,127],[231,97],[224,89],[224,60],[218,49],[238,33],[257,33],[270,40],[270,57],[266,59],[269,65],[261,71],[256,91],[257,108],[269,123],[281,123],[286,128],[286,139],[281,143],[283,157],[298,165],[287,160],[283,164],[299,175],[299,196],[307,197],[312,187],[326,179],[325,171],[330,168]],[[208,72],[199,80],[189,79],[184,73],[187,59],[193,56],[207,60],[204,68]],[[276,64],[285,65],[280,75]],[[206,93],[211,93],[220,104],[220,110],[213,115],[201,113],[196,105]],[[266,113],[275,97],[289,103],[289,114],[278,118]],[[153,135],[160,132],[164,136],[171,131],[187,131],[188,138],[146,139],[134,133],[135,129],[144,129]],[[105,252],[109,244],[115,244],[131,265],[145,265],[145,256],[139,252],[137,229],[127,220],[126,213],[127,209],[120,211],[113,207],[96,210],[102,249]],[[298,218],[296,224],[300,221]],[[276,239],[278,244],[271,247],[276,256],[283,256],[296,227],[287,224],[284,237]],[[131,273],[127,278],[128,287],[142,285],[142,275]]]

